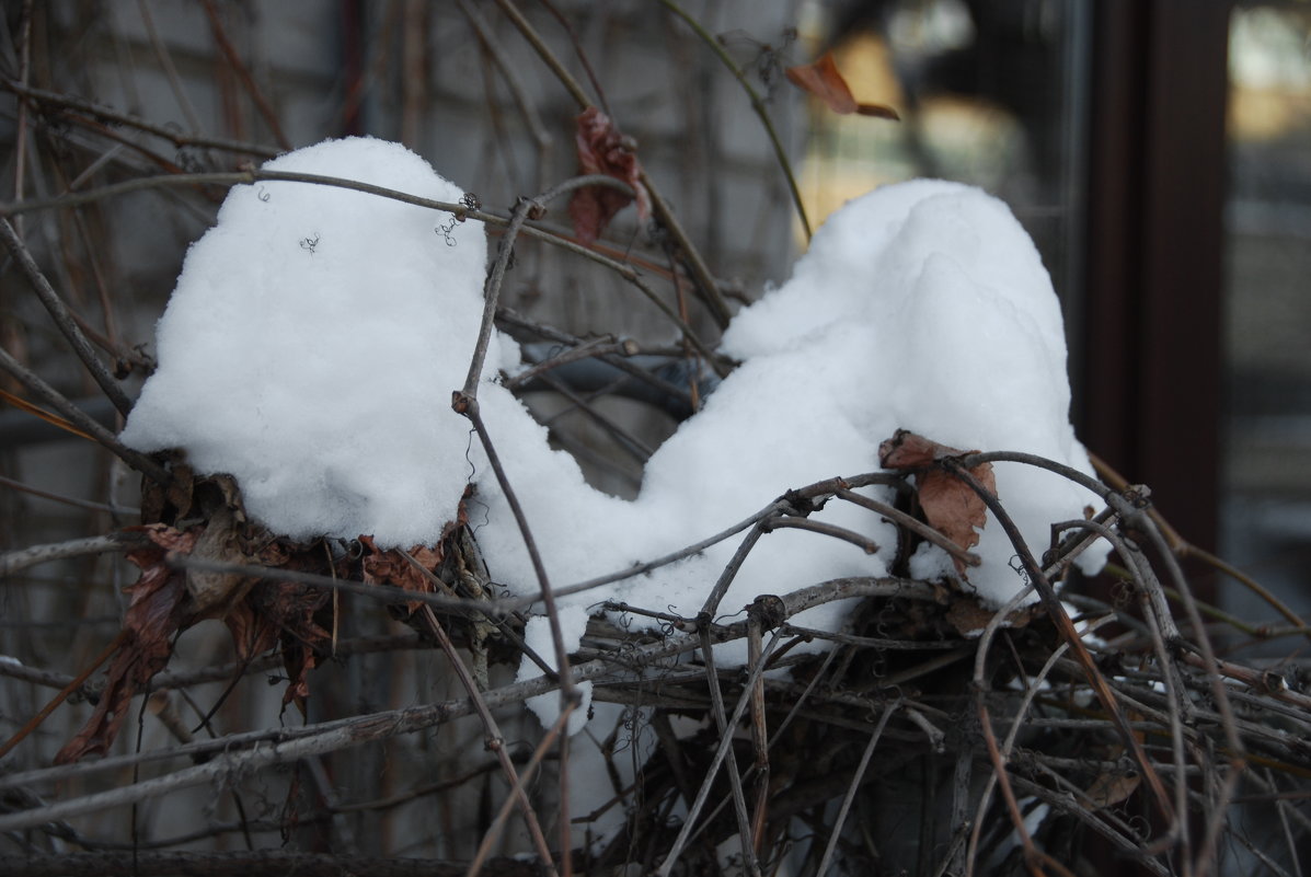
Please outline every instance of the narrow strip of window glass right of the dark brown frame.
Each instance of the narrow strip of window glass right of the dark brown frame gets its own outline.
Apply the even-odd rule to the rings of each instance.
[[[1222,549],[1301,615],[1311,612],[1308,47],[1303,3],[1234,12]],[[1224,593],[1243,617],[1278,619],[1244,589]]]

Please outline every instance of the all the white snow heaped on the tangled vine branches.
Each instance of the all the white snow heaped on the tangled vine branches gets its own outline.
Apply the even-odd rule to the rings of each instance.
[[[461,194],[418,156],[371,139],[326,142],[266,166],[443,201]],[[184,447],[198,471],[232,473],[248,510],[295,537],[430,543],[473,480],[473,518],[485,520],[476,534],[494,578],[536,593],[490,467],[450,410],[477,334],[486,253],[473,222],[455,224],[454,246],[434,233],[450,219],[317,185],[235,189],[218,225],[187,254],[159,324],[159,371],[125,442],[143,451]],[[587,486],[572,458],[549,450],[545,429],[496,383],[498,370],[517,366],[517,349],[493,338],[479,389],[482,417],[553,586],[688,545],[789,488],[877,469],[878,444],[897,429],[1091,472],[1068,423],[1065,338],[1047,274],[1009,210],[975,189],[910,182],[850,203],[815,235],[793,278],[733,320],[724,349],[742,366],[657,451],[641,494],[627,502]],[[1020,465],[998,465],[996,482],[1038,553],[1050,522],[1082,516],[1092,501]],[[813,518],[884,551],[868,556],[815,534],[770,534],[721,616],[759,594],[886,572],[895,536],[876,514],[834,499]],[[589,607],[606,599],[696,615],[741,539],[562,600],[566,645],[577,648]],[[1023,583],[995,523],[979,552],[985,562],[970,585],[999,604]],[[1101,557],[1089,552],[1084,562]],[[932,556],[916,565],[949,568]],[[846,608],[817,607],[798,623],[836,629]],[[544,631],[544,621],[530,625],[548,657]],[[743,658],[738,646],[720,659]],[[549,724],[557,700],[534,708]]]

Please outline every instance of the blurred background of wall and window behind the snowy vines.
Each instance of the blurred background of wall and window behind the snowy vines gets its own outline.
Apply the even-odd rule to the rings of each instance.
[[[701,35],[654,1],[522,5],[572,72],[602,85],[730,300],[785,279],[804,250],[787,184],[743,88]],[[760,96],[815,225],[848,198],[922,176],[1006,199],[1065,304],[1072,417],[1086,443],[1148,484],[1186,539],[1311,612],[1311,4],[679,5]],[[10,0],[0,26],[5,202],[229,170],[349,134],[405,143],[498,210],[574,172],[577,107],[494,3]],[[894,106],[901,123],[836,115],[787,83],[785,67],[830,50],[855,96]],[[106,358],[139,376],[186,246],[222,194],[140,191],[17,224]],[[632,210],[604,244],[669,261]],[[653,347],[673,338],[612,277],[548,248],[524,246],[506,304],[578,336]],[[703,311],[691,321],[714,336]],[[8,256],[0,343],[109,417]],[[636,490],[641,452],[616,451],[568,399],[530,402],[597,484]],[[631,400],[597,408],[648,443],[676,425]],[[0,476],[5,549],[132,523],[135,476],[8,406]],[[127,581],[119,566],[79,561],[5,582],[0,654],[75,672],[117,628],[110,586]],[[1198,581],[1230,611],[1274,620],[1231,581]],[[222,642],[194,649],[203,665]],[[378,676],[363,662],[349,672],[354,687],[343,691],[359,697],[409,696],[370,691]],[[0,735],[41,700],[7,680]]]

